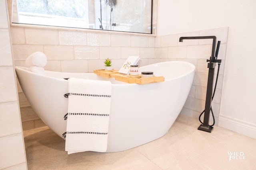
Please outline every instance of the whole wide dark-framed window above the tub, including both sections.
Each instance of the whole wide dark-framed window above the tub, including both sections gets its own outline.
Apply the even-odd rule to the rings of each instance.
[[[12,23],[151,33],[152,0],[14,0]]]

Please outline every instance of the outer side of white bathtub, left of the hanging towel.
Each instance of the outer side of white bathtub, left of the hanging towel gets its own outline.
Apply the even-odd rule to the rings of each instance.
[[[16,74],[28,102],[42,121],[62,137],[66,131],[64,115],[68,111],[68,81],[43,76],[16,66]]]

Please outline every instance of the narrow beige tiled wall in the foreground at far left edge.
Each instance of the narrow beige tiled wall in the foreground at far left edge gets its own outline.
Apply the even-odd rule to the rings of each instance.
[[[26,170],[26,153],[5,0],[0,1],[0,169]]]

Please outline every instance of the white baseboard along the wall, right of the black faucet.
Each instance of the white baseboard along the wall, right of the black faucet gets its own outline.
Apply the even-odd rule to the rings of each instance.
[[[255,124],[234,119],[232,117],[219,115],[218,126],[256,139]]]

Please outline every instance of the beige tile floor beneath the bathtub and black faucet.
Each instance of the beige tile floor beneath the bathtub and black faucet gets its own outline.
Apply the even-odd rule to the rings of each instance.
[[[65,141],[48,127],[24,131],[29,170],[256,170],[256,139],[214,127],[198,131],[197,119],[180,115],[168,133],[115,153],[68,155]],[[241,154],[231,156],[228,152]],[[229,160],[230,158],[230,160]]]

